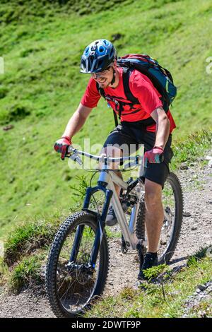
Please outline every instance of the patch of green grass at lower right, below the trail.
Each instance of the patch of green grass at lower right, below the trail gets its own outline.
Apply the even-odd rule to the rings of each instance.
[[[103,318],[179,318],[184,313],[187,297],[196,287],[211,280],[212,264],[209,257],[196,260],[196,263],[183,268],[179,273],[164,283],[148,283],[139,290],[124,287],[116,297],[105,297],[94,305],[86,317]],[[199,313],[199,310],[202,312]],[[211,301],[199,304],[189,313],[191,317],[211,316]]]

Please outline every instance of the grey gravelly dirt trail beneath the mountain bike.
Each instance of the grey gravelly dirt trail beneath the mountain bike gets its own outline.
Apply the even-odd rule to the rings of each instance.
[[[211,170],[208,165],[200,168],[194,164],[178,174],[184,192],[184,218],[177,249],[170,262],[171,267],[184,265],[188,255],[194,254],[201,247],[212,245]],[[110,241],[110,272],[104,294],[116,295],[125,286],[134,287],[138,271],[136,254],[124,255],[120,240]],[[54,317],[54,315],[45,297],[33,295],[26,290],[18,296],[0,295],[0,317]]]

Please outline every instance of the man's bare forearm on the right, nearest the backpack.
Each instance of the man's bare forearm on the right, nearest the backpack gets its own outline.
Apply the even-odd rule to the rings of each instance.
[[[151,117],[153,117],[157,126],[155,146],[164,149],[170,134],[170,120],[168,119],[167,114],[165,113],[163,107],[156,108],[151,113]]]

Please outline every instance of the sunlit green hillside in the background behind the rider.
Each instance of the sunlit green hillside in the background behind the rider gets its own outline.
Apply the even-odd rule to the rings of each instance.
[[[19,20],[1,23],[6,72],[0,75],[0,121],[14,129],[0,132],[0,236],[19,220],[70,206],[69,184],[79,172],[69,170],[52,145],[86,88],[88,76],[78,73],[78,64],[90,41],[122,33],[115,42],[119,55],[148,53],[170,69],[179,87],[172,111],[175,141],[211,126],[212,76],[206,74],[211,1],[195,1],[195,6],[190,0],[126,3],[89,16],[48,6],[44,17],[23,11]],[[2,5],[1,15],[11,7]],[[82,145],[90,137],[91,144],[103,143],[112,126],[112,114],[101,101],[73,142]]]

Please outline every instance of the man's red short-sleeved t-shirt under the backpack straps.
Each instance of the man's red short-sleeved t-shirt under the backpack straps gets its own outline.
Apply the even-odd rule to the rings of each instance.
[[[119,76],[119,85],[117,88],[113,89],[107,87],[104,89],[105,95],[112,96],[114,99],[120,100],[120,98],[124,98],[124,102],[131,102],[130,100],[126,100],[126,95],[124,94],[124,86],[123,86],[123,69],[120,67],[118,68],[120,76]],[[148,119],[151,117],[151,112],[153,112],[157,107],[163,107],[163,103],[160,100],[160,93],[158,90],[155,89],[151,80],[137,71],[136,69],[132,71],[131,76],[129,78],[129,88],[131,93],[139,100],[138,105],[134,105],[134,108],[131,109],[129,105],[124,105],[124,109],[121,115],[121,121],[141,121],[144,119]],[[98,105],[98,101],[100,100],[100,93],[96,87],[96,82],[93,78],[90,78],[88,82],[88,86],[86,88],[86,92],[84,93],[81,104],[86,107],[96,107]],[[119,97],[119,98],[118,98]],[[121,99],[122,100],[122,99]],[[115,104],[112,101],[108,102],[112,109],[115,111]],[[137,112],[136,112],[137,111]],[[118,112],[117,112],[118,113]],[[175,129],[175,121],[172,118],[172,114],[170,110],[167,112],[167,117],[170,120],[170,133],[173,129]],[[155,132],[156,125],[153,124],[152,126],[147,126],[147,131]]]

